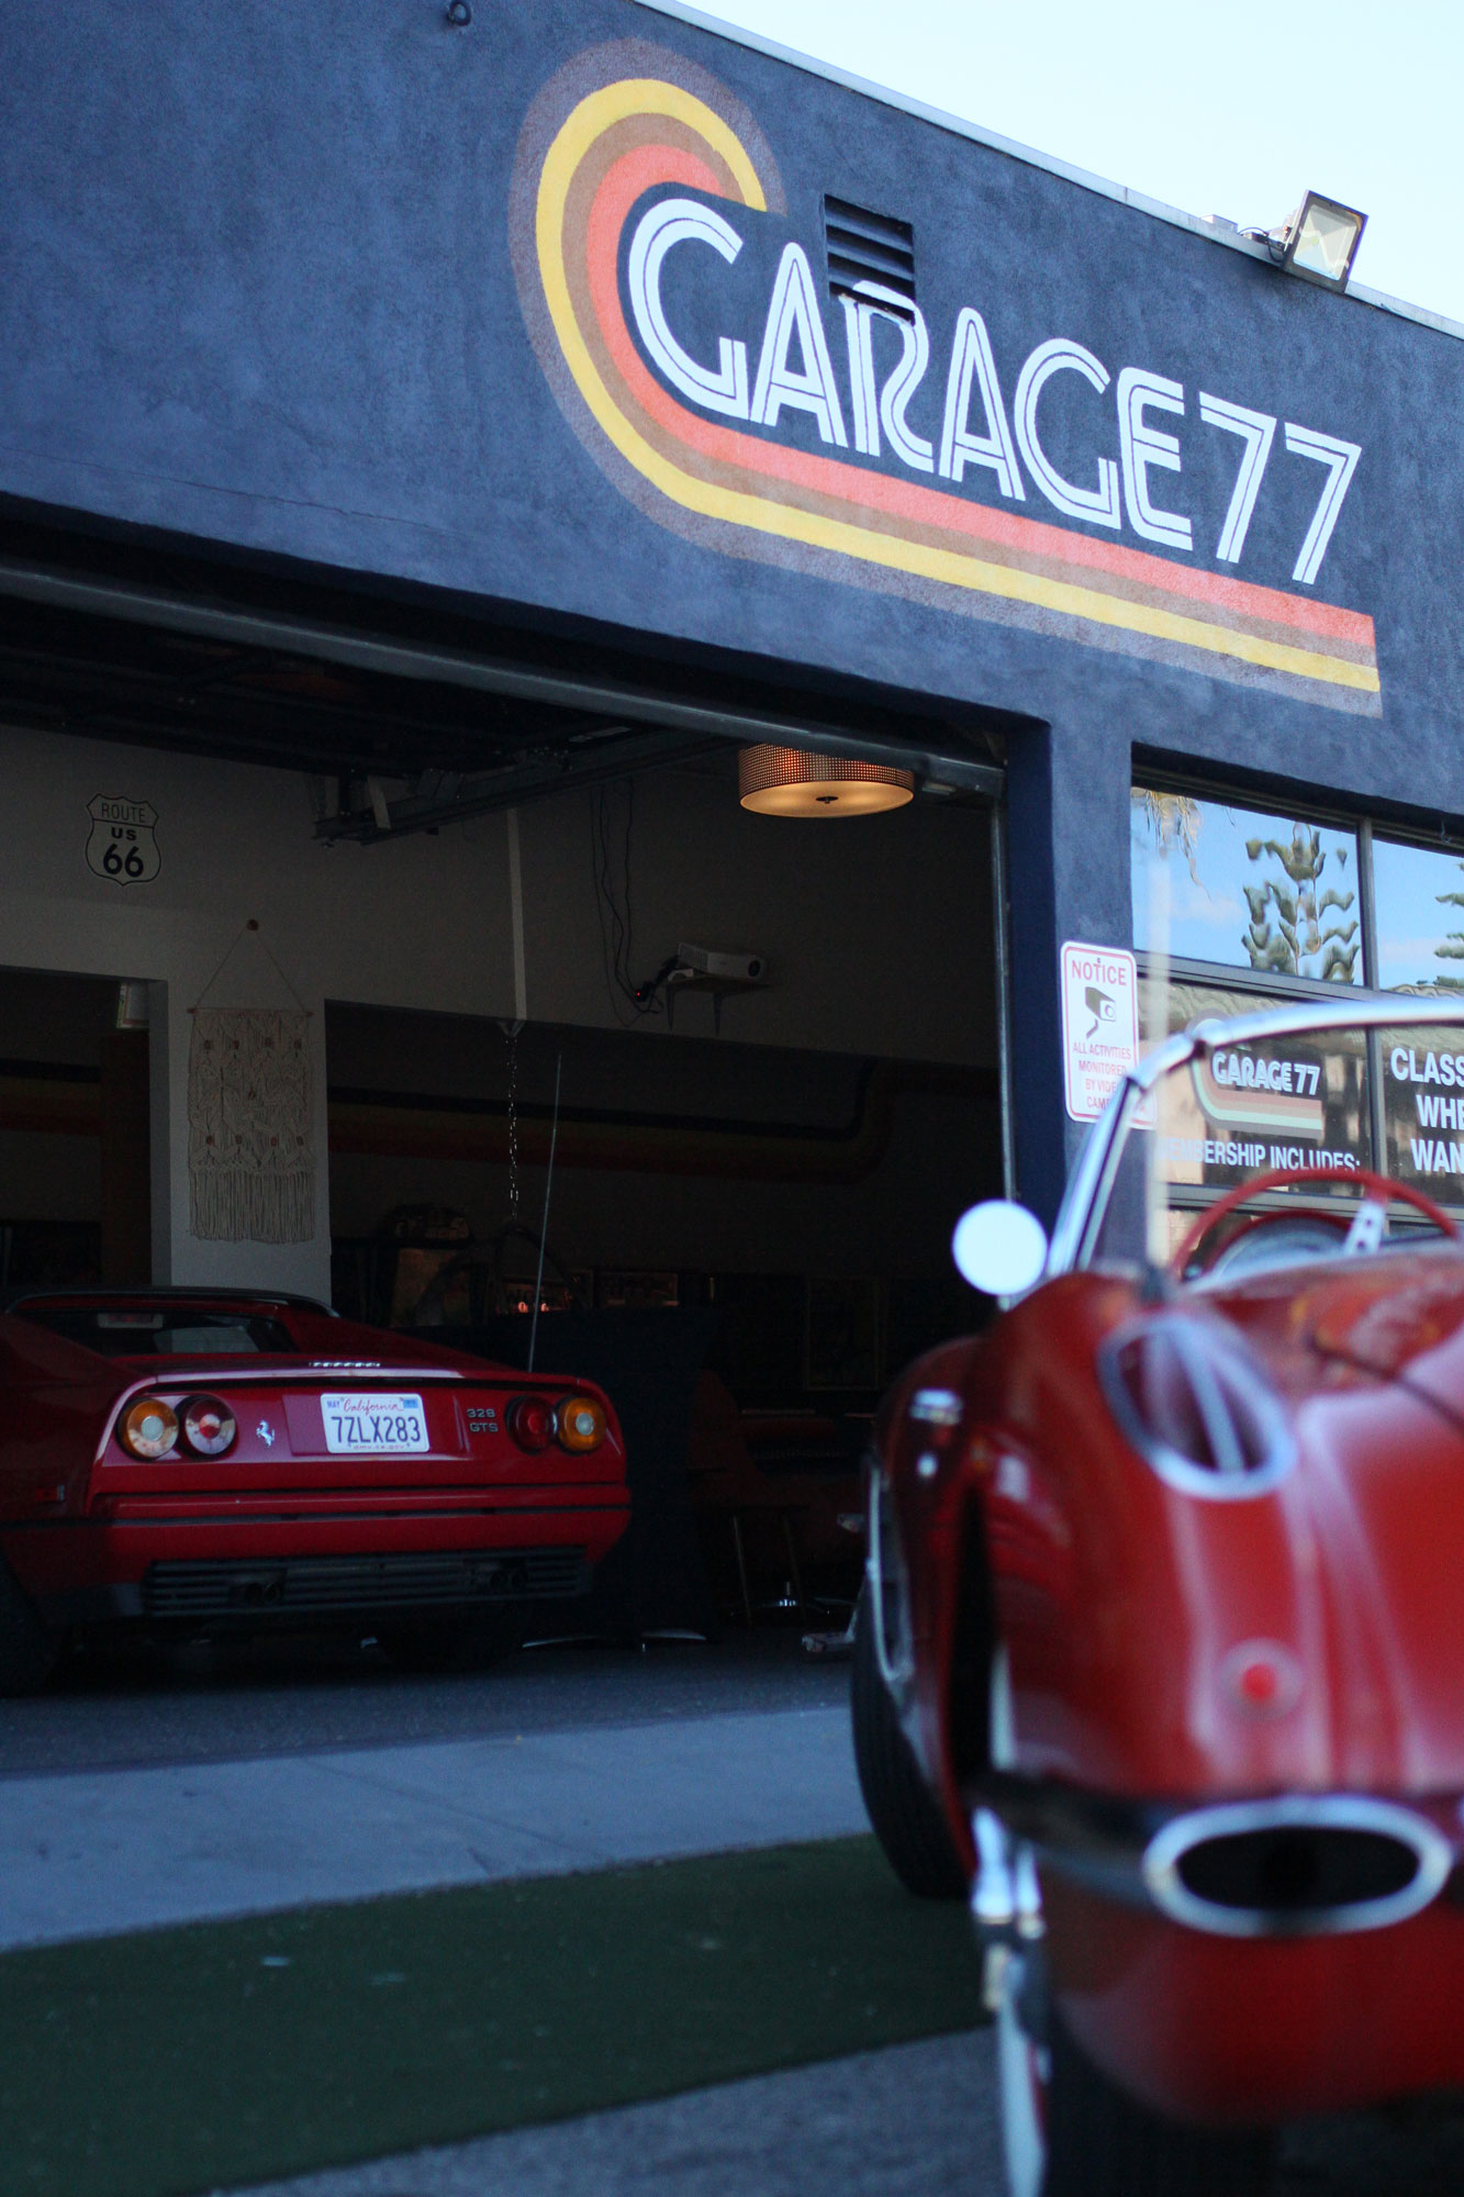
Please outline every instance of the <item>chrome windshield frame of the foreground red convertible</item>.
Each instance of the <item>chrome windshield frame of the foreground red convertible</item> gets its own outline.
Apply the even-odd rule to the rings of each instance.
[[[1416,997],[1413,993],[1372,993],[1358,1000],[1317,1000],[1295,1006],[1271,1006],[1255,1015],[1229,1015],[1224,1019],[1205,1017],[1187,1030],[1167,1037],[1152,1052],[1145,1052],[1114,1085],[1114,1092],[1093,1123],[1077,1164],[1068,1178],[1068,1189],[1053,1224],[1053,1239],[1046,1254],[1046,1276],[1071,1274],[1088,1265],[1108,1213],[1119,1162],[1134,1127],[1134,1116],[1150,1092],[1178,1068],[1196,1059],[1209,1059],[1224,1046],[1253,1046],[1273,1037],[1310,1037],[1328,1030],[1367,1033],[1407,1028],[1460,1028],[1464,1030],[1464,993],[1440,997]]]

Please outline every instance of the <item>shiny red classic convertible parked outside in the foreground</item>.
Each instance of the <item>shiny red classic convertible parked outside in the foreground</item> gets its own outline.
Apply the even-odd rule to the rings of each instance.
[[[881,1415],[855,1742],[969,1885],[1013,2197],[1464,2085],[1462,1145],[1464,1004],[1297,1004],[1161,1044],[1051,1246],[956,1230],[1016,1301]]]

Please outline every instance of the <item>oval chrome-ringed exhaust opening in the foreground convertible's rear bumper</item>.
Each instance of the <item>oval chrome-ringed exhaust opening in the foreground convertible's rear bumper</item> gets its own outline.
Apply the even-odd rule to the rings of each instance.
[[[1196,1808],[1143,1854],[1161,1914],[1222,1938],[1385,1929],[1438,1898],[1451,1870],[1427,1817],[1352,1793]]]

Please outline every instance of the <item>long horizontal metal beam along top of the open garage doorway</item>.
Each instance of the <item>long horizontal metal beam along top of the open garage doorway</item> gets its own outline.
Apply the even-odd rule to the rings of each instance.
[[[925,749],[906,740],[870,738],[840,725],[809,725],[796,716],[761,710],[717,710],[710,703],[653,694],[615,681],[536,670],[492,657],[468,657],[448,648],[426,648],[407,642],[382,642],[345,626],[321,626],[310,620],[262,615],[224,604],[189,602],[154,589],[110,587],[101,580],[79,580],[75,573],[48,571],[40,565],[0,560],[0,593],[26,602],[48,602],[86,611],[92,617],[121,617],[143,626],[165,626],[171,633],[198,633],[209,639],[235,642],[248,648],[288,650],[319,657],[328,663],[350,663],[356,670],[382,672],[391,679],[433,679],[444,685],[477,688],[486,694],[512,694],[521,701],[589,710],[596,716],[624,718],[637,725],[659,725],[666,732],[695,734],[701,740],[736,740],[739,745],[769,740],[776,747],[807,747],[824,756],[851,756],[859,762],[881,762],[917,778],[934,778],[996,800],[1002,771],[991,762]],[[644,762],[670,760],[670,751],[646,756]]]

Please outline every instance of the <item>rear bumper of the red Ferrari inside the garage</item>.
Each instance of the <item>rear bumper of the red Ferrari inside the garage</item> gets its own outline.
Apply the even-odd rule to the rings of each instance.
[[[605,1501],[605,1496],[611,1501]],[[75,1520],[0,1534],[53,1624],[330,1617],[580,1595],[629,1503]]]

